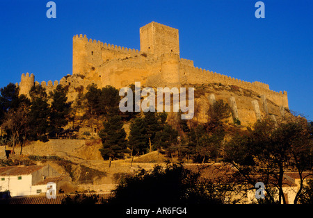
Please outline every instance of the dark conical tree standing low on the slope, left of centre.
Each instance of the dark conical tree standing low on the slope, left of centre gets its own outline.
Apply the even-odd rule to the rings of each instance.
[[[122,119],[116,115],[108,121],[104,121],[104,129],[99,132],[103,147],[99,149],[104,160],[124,158],[127,151],[126,132],[123,128]]]

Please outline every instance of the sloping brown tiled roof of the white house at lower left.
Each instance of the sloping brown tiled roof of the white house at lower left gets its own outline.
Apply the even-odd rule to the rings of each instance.
[[[19,176],[29,175],[45,166],[12,166],[12,167],[0,167],[0,176]]]

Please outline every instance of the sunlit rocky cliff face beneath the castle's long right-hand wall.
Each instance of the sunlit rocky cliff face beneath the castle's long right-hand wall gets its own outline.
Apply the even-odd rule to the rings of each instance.
[[[208,83],[202,85],[201,88],[195,89],[194,121],[197,120],[200,123],[209,121],[209,107],[220,99],[228,103],[232,110],[232,116],[224,120],[228,124],[234,124],[235,119],[238,119],[242,126],[252,127],[257,119],[269,116],[275,120],[276,117],[282,117],[282,114],[286,111],[273,101],[267,101],[267,106],[264,108],[262,106],[262,97],[256,92],[245,89],[239,90],[237,87],[227,89],[225,85],[218,86]]]

